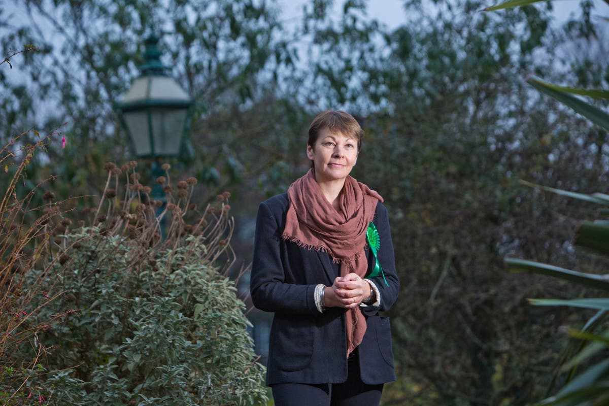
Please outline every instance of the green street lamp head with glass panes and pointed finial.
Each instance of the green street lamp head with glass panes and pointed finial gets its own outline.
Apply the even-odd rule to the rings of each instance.
[[[192,99],[167,75],[161,63],[159,38],[146,38],[141,75],[118,104],[121,122],[138,158],[178,156],[188,131]]]

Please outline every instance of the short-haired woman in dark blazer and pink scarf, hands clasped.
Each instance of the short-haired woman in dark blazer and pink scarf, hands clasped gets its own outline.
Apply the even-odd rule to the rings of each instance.
[[[250,289],[254,306],[275,313],[266,383],[276,406],[378,405],[395,380],[389,319],[378,314],[400,289],[387,209],[349,176],[362,136],[350,114],[319,114],[311,170],[258,209]]]

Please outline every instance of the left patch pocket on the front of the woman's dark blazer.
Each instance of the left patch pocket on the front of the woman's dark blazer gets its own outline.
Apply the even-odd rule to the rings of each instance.
[[[277,368],[281,371],[300,371],[309,366],[313,355],[313,318],[275,314],[272,328],[272,362]]]

